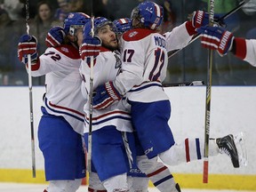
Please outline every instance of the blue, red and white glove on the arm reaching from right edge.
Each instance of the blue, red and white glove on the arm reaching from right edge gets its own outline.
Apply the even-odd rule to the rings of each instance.
[[[208,49],[217,50],[220,56],[226,55],[232,49],[234,36],[220,27],[202,27],[197,32],[201,34],[201,44]]]

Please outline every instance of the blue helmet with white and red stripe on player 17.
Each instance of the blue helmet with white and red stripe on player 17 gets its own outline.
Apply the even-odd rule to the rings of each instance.
[[[154,2],[142,2],[132,10],[132,20],[139,20],[146,28],[157,29],[164,18],[164,9]]]

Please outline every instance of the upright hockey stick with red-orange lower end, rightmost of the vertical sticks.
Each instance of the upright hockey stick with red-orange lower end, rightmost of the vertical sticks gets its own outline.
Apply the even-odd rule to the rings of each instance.
[[[214,24],[214,0],[209,0],[209,25]],[[206,100],[205,100],[205,124],[204,124],[204,172],[203,183],[208,183],[208,166],[209,166],[209,136],[210,136],[210,117],[211,117],[211,89],[212,89],[212,50],[208,50],[208,70],[206,84]]]

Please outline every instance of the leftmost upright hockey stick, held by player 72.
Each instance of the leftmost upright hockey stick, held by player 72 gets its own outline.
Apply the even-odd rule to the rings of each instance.
[[[29,35],[29,6],[26,0],[26,26]],[[34,137],[34,113],[33,113],[33,94],[32,94],[32,76],[31,76],[31,55],[28,54],[28,90],[29,90],[29,108],[30,108],[30,132],[31,132],[31,152],[32,152],[32,175],[36,178],[36,155],[35,155],[35,137]]]

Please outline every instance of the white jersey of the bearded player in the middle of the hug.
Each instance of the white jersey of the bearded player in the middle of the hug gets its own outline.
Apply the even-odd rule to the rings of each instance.
[[[93,68],[93,90],[101,84],[113,81],[119,73],[120,68],[120,54],[102,48]],[[90,67],[84,60],[80,72],[84,78],[82,89],[86,90],[82,92],[85,93],[84,96],[88,100],[84,105],[84,112],[87,115],[85,118],[84,132],[88,132],[90,114],[90,102],[88,98],[88,92],[90,92]],[[115,102],[105,109],[92,109],[92,132],[108,125],[116,126],[116,129],[119,131],[132,132],[131,116],[124,107],[123,100]]]

